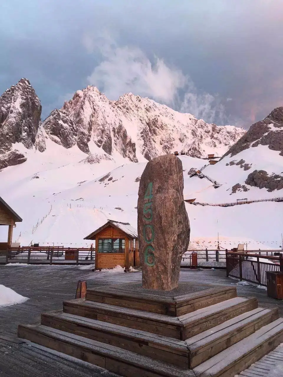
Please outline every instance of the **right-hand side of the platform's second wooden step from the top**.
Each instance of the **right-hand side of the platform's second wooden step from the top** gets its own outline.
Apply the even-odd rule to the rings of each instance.
[[[255,297],[235,297],[178,317],[183,324],[181,339],[188,339],[258,307]]]

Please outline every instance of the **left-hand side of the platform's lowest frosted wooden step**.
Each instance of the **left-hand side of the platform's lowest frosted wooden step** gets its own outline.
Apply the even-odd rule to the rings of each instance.
[[[44,325],[19,325],[18,336],[126,377],[195,377],[191,369]]]

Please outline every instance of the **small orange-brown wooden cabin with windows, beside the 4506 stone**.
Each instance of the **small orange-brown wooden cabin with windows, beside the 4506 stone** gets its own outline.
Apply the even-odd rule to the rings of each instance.
[[[108,220],[84,239],[95,240],[95,269],[114,268],[129,270],[140,265],[138,233],[128,222]]]

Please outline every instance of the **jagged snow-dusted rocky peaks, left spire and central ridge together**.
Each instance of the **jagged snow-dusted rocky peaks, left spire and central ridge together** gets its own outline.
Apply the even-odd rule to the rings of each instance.
[[[93,86],[75,92],[41,124],[40,114],[40,101],[27,79],[0,97],[0,169],[29,158],[28,150],[15,150],[15,143],[44,153],[50,139],[66,149],[99,153],[100,159],[141,162],[175,150],[194,157],[222,156],[246,132],[207,124],[132,93],[110,101]]]

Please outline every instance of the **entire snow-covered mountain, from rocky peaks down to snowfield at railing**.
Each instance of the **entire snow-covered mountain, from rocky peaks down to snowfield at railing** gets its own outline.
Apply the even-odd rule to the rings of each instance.
[[[33,92],[30,92],[32,95]],[[35,103],[34,99],[31,103]],[[150,113],[145,109],[149,105]],[[20,110],[13,106],[15,115]],[[5,107],[6,115],[9,114],[8,108]],[[171,151],[180,151],[185,148],[185,143],[189,143],[178,139],[182,127],[192,143],[196,140],[199,143],[196,148],[200,154],[197,156],[207,152],[222,155],[229,147],[224,147],[223,139],[211,139],[212,130],[217,126],[132,94],[124,95],[116,102],[109,101],[93,87],[75,93],[71,101],[66,102],[61,110],[54,110],[43,124],[33,123],[35,118],[25,113],[25,117],[22,116],[29,126],[24,128],[25,132],[19,131],[14,139],[11,136],[12,118],[8,117],[9,123],[7,115],[3,121],[4,111],[1,111],[1,135],[6,135],[3,124],[6,129],[7,124],[10,127],[6,138],[0,139],[5,140],[5,148],[3,142],[1,144],[2,155],[17,149],[16,153],[26,159],[24,164],[8,166],[0,172],[0,195],[23,218],[13,232],[13,241],[22,245],[33,240],[45,245],[54,242],[86,246],[83,238],[109,218],[130,222],[137,227],[135,207],[139,179],[146,166],[146,158],[152,158],[154,153],[164,153],[164,143],[161,145],[160,140],[167,133],[174,135],[175,144]],[[230,144],[227,153],[215,165],[195,156],[179,156],[183,163],[185,198],[217,204],[236,202],[240,198],[283,197],[281,178],[277,177],[283,174],[282,113],[282,107],[273,110],[264,120],[252,125],[247,133],[234,128],[237,131],[237,134],[234,133],[236,143]],[[163,133],[160,128],[146,124],[150,114],[155,114],[158,122],[162,120]],[[195,124],[189,123],[192,120]],[[204,128],[194,128],[197,123],[202,123]],[[23,130],[18,126],[20,122],[16,124],[17,129]],[[117,131],[119,127],[120,133]],[[148,139],[141,136],[145,129],[149,132]],[[225,130],[225,127],[216,128],[219,129]],[[37,132],[32,133],[32,130]],[[226,130],[229,127],[226,126]],[[203,135],[202,138],[191,138],[193,131]],[[215,135],[216,131],[213,132]],[[228,135],[226,131],[223,131],[224,134],[221,132],[217,134],[219,138]],[[8,139],[11,140],[9,145]],[[214,141],[218,149],[209,144]],[[110,146],[111,150],[108,149]],[[150,155],[143,149],[145,146]],[[187,150],[187,153],[192,152],[192,147],[189,152]],[[192,176],[201,168],[203,178],[198,174]],[[276,185],[270,182],[257,184],[258,173],[261,177],[272,176]],[[259,202],[223,208],[186,204],[191,224],[191,245],[200,242],[202,247],[214,246],[212,240],[215,241],[219,233],[224,248],[242,242],[256,248],[278,247],[281,243],[282,205],[283,202]],[[0,229],[0,241],[6,241],[7,231],[4,226],[0,228],[3,228]]]

